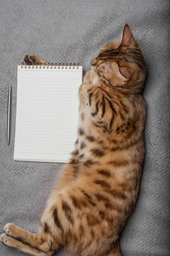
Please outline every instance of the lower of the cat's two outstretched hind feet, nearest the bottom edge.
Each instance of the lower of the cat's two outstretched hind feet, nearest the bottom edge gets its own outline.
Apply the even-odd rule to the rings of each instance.
[[[33,256],[50,256],[50,255],[52,255],[52,254],[47,254],[43,251],[37,250],[36,248],[29,246],[28,244],[23,244],[21,241],[18,241],[12,237],[9,237],[6,234],[2,234],[0,236],[0,241],[9,247],[14,247],[16,249],[23,251],[24,253],[28,253],[29,255],[33,255]]]

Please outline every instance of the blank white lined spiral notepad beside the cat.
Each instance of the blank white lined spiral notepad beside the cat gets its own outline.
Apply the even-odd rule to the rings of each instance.
[[[14,160],[67,163],[77,139],[82,67],[21,65]]]

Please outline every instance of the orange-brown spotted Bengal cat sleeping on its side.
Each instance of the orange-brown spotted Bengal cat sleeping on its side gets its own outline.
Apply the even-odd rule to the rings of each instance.
[[[26,54],[25,61],[42,63]],[[121,256],[119,234],[139,192],[144,160],[145,61],[128,25],[91,60],[79,87],[75,150],[38,234],[6,224],[0,240],[33,256],[63,247],[74,256]]]

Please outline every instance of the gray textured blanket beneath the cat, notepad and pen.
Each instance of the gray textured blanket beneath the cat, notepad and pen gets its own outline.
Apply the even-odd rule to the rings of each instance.
[[[17,65],[25,53],[49,62],[80,62],[87,71],[103,44],[125,23],[147,62],[144,99],[146,157],[139,201],[121,236],[124,256],[170,255],[169,1],[0,1],[0,233],[7,222],[37,232],[45,202],[62,164],[14,162]],[[6,144],[6,105],[12,86],[11,143]],[[0,256],[24,253],[0,244]],[[59,251],[56,255],[66,256]]]

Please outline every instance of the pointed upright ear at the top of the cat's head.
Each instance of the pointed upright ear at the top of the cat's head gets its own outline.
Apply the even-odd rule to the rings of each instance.
[[[123,46],[138,47],[138,43],[135,41],[135,38],[133,37],[130,27],[127,24],[124,26],[124,29],[123,29],[122,41],[119,44],[119,46],[116,48],[120,48]]]

